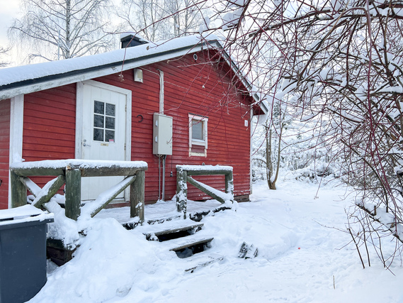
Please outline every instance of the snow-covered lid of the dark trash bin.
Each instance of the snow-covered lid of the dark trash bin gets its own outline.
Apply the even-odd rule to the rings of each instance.
[[[0,226],[44,220],[53,222],[53,214],[41,211],[30,204],[13,209],[0,210]]]

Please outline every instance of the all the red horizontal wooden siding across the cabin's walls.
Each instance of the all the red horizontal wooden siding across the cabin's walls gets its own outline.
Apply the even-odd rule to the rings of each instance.
[[[231,71],[220,62],[210,62],[209,55],[200,52],[196,61],[193,55],[186,55],[144,66],[143,83],[133,81],[132,70],[123,72],[123,81],[118,74],[95,79],[132,91],[132,160],[144,160],[149,165],[145,180],[147,202],[155,202],[159,197],[159,159],[152,155],[152,120],[153,114],[159,112],[159,70],[164,72],[164,114],[174,118],[173,155],[166,158],[165,198],[174,196],[175,167],[183,164],[231,165],[234,167],[234,193],[237,196],[250,193],[250,130],[244,126],[244,120],[250,118],[251,98],[234,88],[237,84],[232,82]],[[9,102],[0,104],[8,104],[9,113]],[[207,157],[189,157],[188,114],[208,116]],[[138,115],[142,115],[141,122]],[[3,115],[0,124],[2,119]],[[74,158],[75,120],[76,84],[25,95],[23,158],[26,161]],[[5,123],[9,128],[9,114]],[[8,133],[4,138],[7,142]],[[1,138],[0,133],[0,144]],[[8,170],[8,155],[6,160]],[[173,177],[170,177],[171,171]],[[225,187],[222,176],[196,179],[217,189]],[[35,181],[44,184],[47,178]],[[0,194],[6,186],[0,187]],[[191,186],[188,194],[190,199],[205,197]]]

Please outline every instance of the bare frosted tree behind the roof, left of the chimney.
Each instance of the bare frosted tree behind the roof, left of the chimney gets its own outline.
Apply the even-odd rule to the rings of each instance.
[[[55,60],[106,51],[108,0],[23,0],[23,17],[8,30],[28,59]]]

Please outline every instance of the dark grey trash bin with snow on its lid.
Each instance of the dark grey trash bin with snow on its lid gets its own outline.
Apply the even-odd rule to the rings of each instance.
[[[0,211],[0,303],[28,301],[45,285],[50,222],[53,214],[31,205]]]

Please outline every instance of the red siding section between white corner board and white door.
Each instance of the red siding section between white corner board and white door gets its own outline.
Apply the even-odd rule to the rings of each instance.
[[[24,96],[23,159],[74,159],[76,84]],[[39,185],[48,177],[33,178]]]

